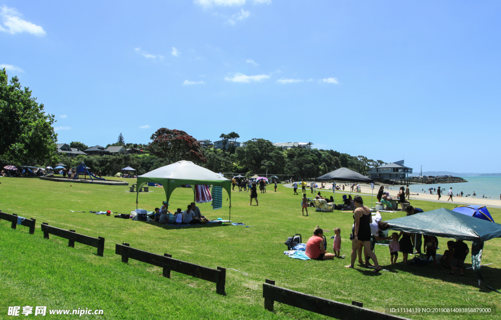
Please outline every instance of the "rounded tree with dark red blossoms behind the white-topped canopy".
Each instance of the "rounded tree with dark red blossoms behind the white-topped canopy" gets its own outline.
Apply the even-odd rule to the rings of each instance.
[[[191,162],[206,162],[200,143],[188,133],[176,130],[160,128],[151,135],[148,150],[151,154],[166,159],[170,163],[181,160]]]

